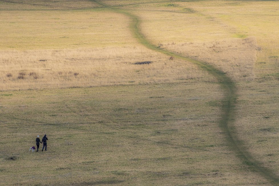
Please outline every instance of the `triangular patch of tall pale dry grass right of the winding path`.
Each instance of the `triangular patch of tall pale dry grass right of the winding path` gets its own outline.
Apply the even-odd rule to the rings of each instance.
[[[167,43],[162,48],[213,64],[234,81],[254,79],[255,37],[211,42]]]

